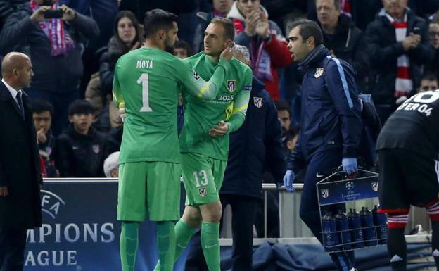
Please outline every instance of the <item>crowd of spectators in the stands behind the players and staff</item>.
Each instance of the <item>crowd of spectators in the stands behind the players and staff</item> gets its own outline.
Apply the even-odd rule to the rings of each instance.
[[[45,177],[117,176],[110,154],[120,148],[123,122],[111,102],[115,63],[142,46],[141,22],[153,8],[179,15],[179,58],[203,50],[212,18],[233,21],[234,42],[248,48],[253,74],[276,105],[286,155],[300,129],[303,70],[286,37],[295,20],[318,23],[324,46],[355,68],[381,122],[409,96],[438,89],[439,1],[0,0],[0,58],[21,51],[32,59],[25,92]],[[180,131],[182,100],[177,110]]]

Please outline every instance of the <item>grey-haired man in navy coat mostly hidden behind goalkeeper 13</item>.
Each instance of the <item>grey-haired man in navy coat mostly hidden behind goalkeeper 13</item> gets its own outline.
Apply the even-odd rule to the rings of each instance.
[[[235,57],[249,63],[248,50],[241,51],[243,46],[235,47]],[[264,170],[271,172],[276,182],[280,182],[285,173],[281,134],[276,107],[264,84],[253,77],[246,120],[241,128],[230,134],[229,159],[220,190],[223,210],[227,205],[231,206],[232,271],[252,270],[253,224],[255,209],[262,199]],[[185,270],[207,271],[199,233],[191,244]]]

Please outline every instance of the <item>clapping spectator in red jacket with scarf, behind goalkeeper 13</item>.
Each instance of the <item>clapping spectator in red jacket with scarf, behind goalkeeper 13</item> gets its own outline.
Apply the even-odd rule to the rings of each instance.
[[[268,13],[260,5],[260,0],[235,1],[227,17],[235,25],[234,42],[250,49],[253,74],[264,82],[265,89],[276,101],[280,98],[276,69],[286,68],[293,62],[281,29],[268,20]]]

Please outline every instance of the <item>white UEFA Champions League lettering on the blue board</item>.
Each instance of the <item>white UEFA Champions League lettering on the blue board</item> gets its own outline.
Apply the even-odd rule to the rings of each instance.
[[[42,227],[28,229],[26,233],[27,244],[38,244],[30,246],[25,253],[24,265],[30,270],[90,270],[85,269],[86,261],[81,259],[81,255],[87,253],[82,246],[111,244],[116,240],[115,225],[111,221],[83,222],[72,215],[68,218],[61,215],[70,213],[68,202],[52,191],[41,191],[41,206],[45,214]],[[47,219],[47,215],[51,219]]]

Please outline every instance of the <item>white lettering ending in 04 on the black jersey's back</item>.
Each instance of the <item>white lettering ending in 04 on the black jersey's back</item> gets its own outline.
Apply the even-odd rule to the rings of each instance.
[[[433,113],[433,108],[439,108],[439,89],[428,92],[420,92],[402,103],[397,111],[418,111],[429,117]]]

